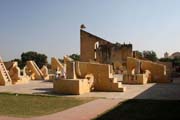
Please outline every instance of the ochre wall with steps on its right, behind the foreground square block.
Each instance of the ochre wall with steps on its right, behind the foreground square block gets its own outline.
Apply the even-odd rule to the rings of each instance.
[[[121,83],[113,78],[111,65],[88,62],[76,62],[75,64],[78,78],[85,77],[87,74],[94,76],[94,90],[117,92],[123,92],[125,90]]]

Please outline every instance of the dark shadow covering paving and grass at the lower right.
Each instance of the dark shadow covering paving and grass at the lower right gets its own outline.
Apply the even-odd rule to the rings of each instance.
[[[180,120],[180,82],[155,84],[95,120]]]

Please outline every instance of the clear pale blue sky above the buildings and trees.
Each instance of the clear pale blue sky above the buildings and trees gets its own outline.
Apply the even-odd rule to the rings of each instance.
[[[80,24],[134,50],[180,51],[180,0],[0,0],[0,56],[80,51]]]

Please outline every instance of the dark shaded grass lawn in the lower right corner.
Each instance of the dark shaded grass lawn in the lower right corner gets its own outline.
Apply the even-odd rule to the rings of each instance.
[[[128,100],[95,120],[180,120],[180,100]]]

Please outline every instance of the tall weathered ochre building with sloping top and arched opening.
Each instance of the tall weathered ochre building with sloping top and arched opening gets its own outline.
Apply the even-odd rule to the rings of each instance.
[[[132,44],[111,43],[84,30],[80,30],[80,60],[112,64],[114,69],[126,66],[127,57],[132,57]]]

